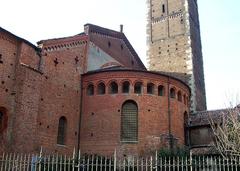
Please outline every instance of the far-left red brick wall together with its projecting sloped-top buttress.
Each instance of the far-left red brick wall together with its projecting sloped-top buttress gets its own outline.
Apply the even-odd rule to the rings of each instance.
[[[4,111],[0,152],[29,152],[36,138],[40,56],[36,47],[6,31],[0,32],[0,47],[0,110]]]

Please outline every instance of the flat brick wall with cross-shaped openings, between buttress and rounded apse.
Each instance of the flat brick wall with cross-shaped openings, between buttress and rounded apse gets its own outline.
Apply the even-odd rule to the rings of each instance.
[[[38,138],[47,153],[71,154],[78,141],[81,74],[86,69],[87,38],[43,42]],[[60,117],[67,120],[66,138],[57,144]]]

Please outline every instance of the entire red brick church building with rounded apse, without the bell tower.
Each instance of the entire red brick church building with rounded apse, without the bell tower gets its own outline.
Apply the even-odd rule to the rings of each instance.
[[[189,87],[148,72],[122,31],[86,24],[35,46],[0,28],[0,152],[145,154],[184,145]]]

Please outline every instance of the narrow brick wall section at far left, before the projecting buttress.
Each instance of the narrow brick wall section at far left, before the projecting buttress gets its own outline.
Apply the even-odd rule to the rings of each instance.
[[[12,145],[12,118],[14,116],[15,96],[11,95],[15,83],[18,42],[12,36],[0,32],[0,107],[5,109],[7,126],[0,133],[0,152]]]

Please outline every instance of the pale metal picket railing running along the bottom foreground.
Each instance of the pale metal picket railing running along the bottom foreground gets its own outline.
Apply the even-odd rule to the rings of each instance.
[[[0,171],[240,171],[240,158],[221,156],[154,156],[118,158],[96,155],[23,155],[0,156]]]

